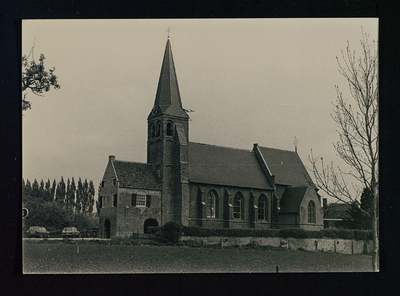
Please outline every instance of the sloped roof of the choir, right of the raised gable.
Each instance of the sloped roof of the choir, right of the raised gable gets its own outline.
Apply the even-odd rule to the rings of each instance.
[[[271,173],[275,175],[276,184],[290,186],[313,184],[296,152],[260,146],[259,149]]]

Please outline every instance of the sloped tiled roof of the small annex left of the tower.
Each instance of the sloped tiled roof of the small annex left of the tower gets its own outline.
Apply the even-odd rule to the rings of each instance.
[[[120,187],[160,190],[160,182],[151,164],[113,161]]]

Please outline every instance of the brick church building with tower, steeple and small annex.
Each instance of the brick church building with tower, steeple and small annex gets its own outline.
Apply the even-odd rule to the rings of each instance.
[[[189,141],[169,39],[147,123],[147,163],[109,156],[99,190],[100,237],[147,233],[169,221],[205,228],[323,228],[321,197],[297,151]]]

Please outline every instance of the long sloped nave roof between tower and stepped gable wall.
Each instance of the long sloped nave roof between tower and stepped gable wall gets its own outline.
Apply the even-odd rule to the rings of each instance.
[[[189,181],[272,189],[254,152],[189,142]]]

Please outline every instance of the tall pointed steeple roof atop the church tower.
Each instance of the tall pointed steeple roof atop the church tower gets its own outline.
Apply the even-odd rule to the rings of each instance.
[[[171,43],[169,39],[165,46],[156,100],[154,102],[153,110],[148,118],[150,119],[163,114],[189,118],[182,108],[178,79],[176,78],[174,59],[172,57]]]

